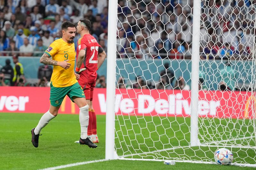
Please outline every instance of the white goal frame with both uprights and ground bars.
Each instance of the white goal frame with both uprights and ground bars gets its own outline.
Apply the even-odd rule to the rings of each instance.
[[[144,161],[164,161],[164,159],[134,159],[118,157],[115,151],[115,102],[116,101],[116,36],[117,36],[117,0],[109,0],[108,4],[108,59],[107,59],[107,94],[106,94],[106,160],[144,160]],[[201,1],[194,0],[193,3],[193,32],[192,32],[192,73],[191,73],[191,115],[190,115],[190,143],[189,146],[177,147],[190,148],[216,147],[216,145],[200,144],[198,139],[198,83],[199,83],[199,60],[200,60],[200,16]],[[219,146],[218,146],[219,147]],[[225,146],[229,147],[229,146]],[[232,147],[232,146],[230,146]],[[176,149],[176,148],[171,148]],[[170,161],[170,160],[169,160]],[[174,162],[216,164],[210,161],[193,160],[171,160]],[[232,163],[234,166],[256,167],[256,164]]]

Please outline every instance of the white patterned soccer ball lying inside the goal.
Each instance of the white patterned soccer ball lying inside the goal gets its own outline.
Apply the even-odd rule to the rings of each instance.
[[[226,148],[220,148],[214,153],[214,159],[218,165],[228,165],[233,161],[233,153]]]

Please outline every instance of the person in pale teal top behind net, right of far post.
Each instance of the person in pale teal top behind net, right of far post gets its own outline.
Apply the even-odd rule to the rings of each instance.
[[[229,61],[225,64],[224,68],[220,70],[220,76],[221,81],[223,81],[230,90],[235,89],[236,71],[232,69]]]

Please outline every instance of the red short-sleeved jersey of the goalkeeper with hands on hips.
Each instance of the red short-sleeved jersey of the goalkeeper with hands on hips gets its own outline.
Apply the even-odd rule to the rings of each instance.
[[[86,70],[80,73],[80,81],[92,83],[97,78],[98,51],[102,48],[91,34],[85,34],[77,41],[76,61],[81,49],[85,50],[84,61],[81,68]],[[80,84],[80,83],[79,83]]]

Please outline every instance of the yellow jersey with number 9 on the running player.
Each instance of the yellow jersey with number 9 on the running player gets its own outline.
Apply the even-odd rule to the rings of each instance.
[[[77,80],[74,74],[76,51],[74,43],[68,44],[62,38],[55,40],[45,51],[47,55],[55,61],[69,60],[71,66],[66,70],[60,66],[54,65],[52,71],[51,83],[54,87],[68,87],[74,85]]]

